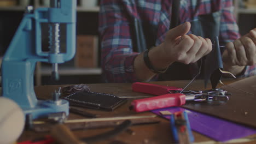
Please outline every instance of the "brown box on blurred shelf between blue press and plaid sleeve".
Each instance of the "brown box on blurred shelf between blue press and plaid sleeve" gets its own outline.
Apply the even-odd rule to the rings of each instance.
[[[97,68],[98,37],[96,35],[77,35],[75,67]]]

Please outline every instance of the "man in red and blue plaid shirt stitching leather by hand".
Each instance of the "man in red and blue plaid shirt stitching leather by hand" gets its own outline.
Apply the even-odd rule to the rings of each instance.
[[[148,51],[148,57],[154,69],[165,71],[173,62],[193,64],[212,50],[211,40],[194,35],[190,22],[216,11],[221,14],[219,42],[226,44],[224,70],[240,76],[256,74],[256,29],[240,37],[232,0],[181,0],[181,25],[169,29],[171,8],[172,0],[101,0],[101,65],[106,82],[158,79],[145,64],[144,52],[133,51],[131,17],[156,27],[155,47]]]

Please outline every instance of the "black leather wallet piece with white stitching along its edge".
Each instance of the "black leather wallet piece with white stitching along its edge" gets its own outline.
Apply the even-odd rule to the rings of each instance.
[[[63,99],[69,101],[69,105],[81,106],[89,109],[100,109],[113,111],[124,104],[127,99],[118,98],[113,94],[97,93],[91,91],[80,91],[67,95]]]

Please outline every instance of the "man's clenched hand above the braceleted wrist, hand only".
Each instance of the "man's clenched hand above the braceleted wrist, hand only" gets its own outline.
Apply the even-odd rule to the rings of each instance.
[[[210,39],[204,39],[194,34],[189,34],[190,23],[185,22],[166,34],[162,45],[164,57],[170,63],[181,62],[184,64],[194,63],[212,50]]]

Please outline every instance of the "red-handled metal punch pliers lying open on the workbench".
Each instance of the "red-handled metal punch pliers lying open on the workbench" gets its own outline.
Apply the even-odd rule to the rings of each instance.
[[[186,100],[212,102],[228,100],[228,97],[225,95],[226,91],[222,89],[212,89],[211,91],[182,91],[182,88],[177,87],[135,82],[132,84],[132,90],[135,92],[159,95],[156,97],[133,100],[131,109],[136,112],[181,106],[185,104]]]

